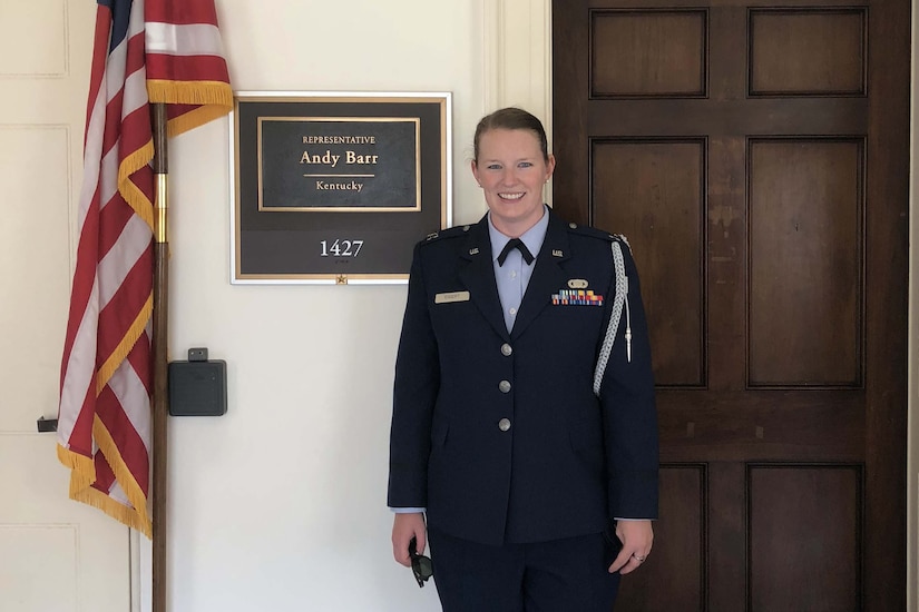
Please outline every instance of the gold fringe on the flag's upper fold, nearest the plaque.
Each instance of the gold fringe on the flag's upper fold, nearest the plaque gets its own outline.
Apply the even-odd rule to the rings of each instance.
[[[169,119],[168,136],[178,136],[233,110],[233,89],[223,81],[148,80],[147,96],[150,102],[199,105],[199,108]]]

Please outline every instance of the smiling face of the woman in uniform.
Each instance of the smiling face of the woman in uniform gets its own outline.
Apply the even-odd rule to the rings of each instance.
[[[555,158],[544,156],[531,130],[497,128],[480,136],[472,175],[501,234],[517,238],[542,218],[542,186],[554,169]]]

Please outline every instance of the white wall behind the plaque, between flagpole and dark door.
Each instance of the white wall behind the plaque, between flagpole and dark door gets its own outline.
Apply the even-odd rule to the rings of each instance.
[[[547,0],[217,7],[235,90],[451,91],[454,224],[485,211],[478,119],[548,118]],[[226,119],[169,151],[169,357],[226,359],[228,412],[170,419],[168,610],[437,609],[392,561],[385,507],[405,286],[231,285],[228,152]]]

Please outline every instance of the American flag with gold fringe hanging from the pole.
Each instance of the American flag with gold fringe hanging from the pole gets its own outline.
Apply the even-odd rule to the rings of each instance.
[[[61,359],[58,458],[70,497],[148,536],[154,156],[233,107],[214,0],[98,0],[79,243]]]

